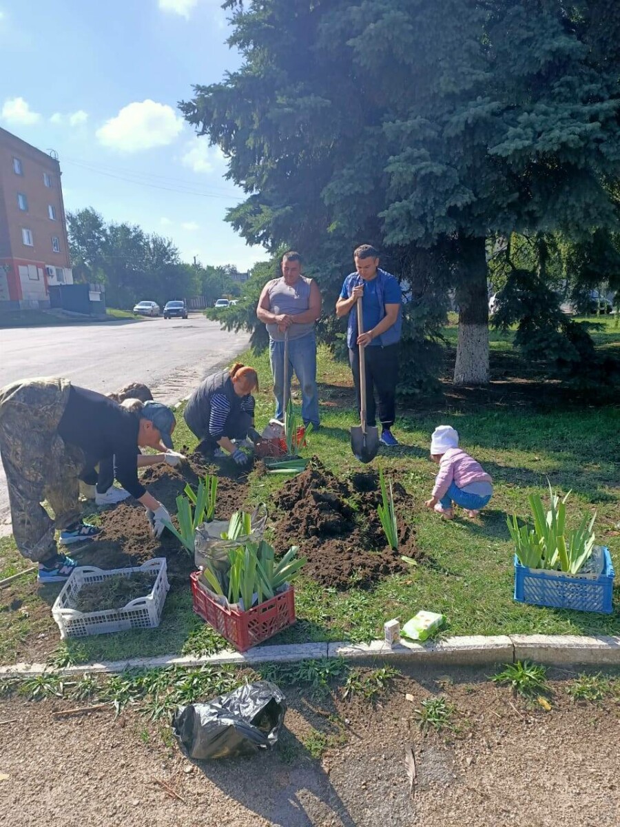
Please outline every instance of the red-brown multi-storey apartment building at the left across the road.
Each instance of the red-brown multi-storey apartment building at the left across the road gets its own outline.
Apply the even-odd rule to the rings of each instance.
[[[0,128],[0,307],[47,307],[55,284],[73,284],[60,164]]]

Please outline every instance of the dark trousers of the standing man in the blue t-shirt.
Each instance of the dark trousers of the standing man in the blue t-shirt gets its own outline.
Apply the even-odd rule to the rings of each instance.
[[[355,384],[357,409],[360,399],[360,349],[349,348],[349,361]],[[366,424],[376,424],[374,391],[379,397],[379,422],[383,428],[391,428],[396,418],[396,383],[398,382],[398,342],[387,347],[369,345],[365,349],[366,364]]]

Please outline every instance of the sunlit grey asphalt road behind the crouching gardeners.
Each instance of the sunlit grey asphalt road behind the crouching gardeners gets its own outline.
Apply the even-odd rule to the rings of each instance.
[[[213,369],[247,347],[245,333],[222,331],[202,314],[0,330],[0,387],[32,376],[66,376],[75,385],[107,393],[127,382],[149,385],[155,399],[173,404]],[[0,466],[0,536],[10,531],[4,470]]]

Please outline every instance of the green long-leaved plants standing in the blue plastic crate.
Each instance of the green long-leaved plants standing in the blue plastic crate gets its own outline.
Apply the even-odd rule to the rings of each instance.
[[[570,491],[560,500],[549,485],[549,509],[545,511],[541,495],[531,494],[527,498],[533,528],[529,523],[519,525],[517,515],[508,517],[508,531],[515,547],[518,561],[522,566],[540,569],[555,569],[567,574],[578,574],[594,550],[594,520],[596,512],[589,518],[584,514],[577,528],[566,528],[566,500]]]

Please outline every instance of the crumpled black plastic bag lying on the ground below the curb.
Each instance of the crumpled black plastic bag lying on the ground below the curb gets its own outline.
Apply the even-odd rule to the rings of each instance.
[[[172,727],[188,758],[232,758],[273,747],[285,712],[286,698],[278,687],[255,681],[208,704],[179,707]]]

